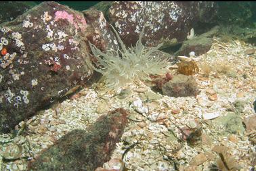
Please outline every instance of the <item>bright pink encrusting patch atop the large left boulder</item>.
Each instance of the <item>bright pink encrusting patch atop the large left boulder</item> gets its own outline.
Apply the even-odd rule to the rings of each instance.
[[[77,19],[77,21],[74,22],[74,16],[72,14],[68,14],[67,11],[56,11],[54,20],[58,21],[60,19],[68,20],[68,22],[74,24],[75,28],[81,28],[82,31],[85,30],[85,27],[87,25],[85,18],[77,14],[75,15],[75,19]]]

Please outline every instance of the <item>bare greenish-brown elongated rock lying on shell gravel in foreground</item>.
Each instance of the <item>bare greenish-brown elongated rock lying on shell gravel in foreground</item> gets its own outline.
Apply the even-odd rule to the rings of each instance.
[[[94,171],[110,160],[126,125],[127,112],[123,108],[100,116],[87,130],[72,130],[64,135],[30,163],[30,169]]]

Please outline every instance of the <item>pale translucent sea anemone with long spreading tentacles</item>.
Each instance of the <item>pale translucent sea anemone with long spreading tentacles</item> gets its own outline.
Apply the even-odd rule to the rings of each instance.
[[[144,28],[135,47],[129,48],[125,47],[116,30],[114,32],[119,40],[121,49],[111,49],[103,53],[95,45],[89,43],[98,65],[98,68],[94,66],[93,68],[102,74],[101,80],[105,82],[106,87],[117,89],[134,80],[148,80],[150,79],[150,74],[165,73],[163,68],[167,66],[167,59],[161,59],[153,55],[162,44],[156,47],[142,45]]]

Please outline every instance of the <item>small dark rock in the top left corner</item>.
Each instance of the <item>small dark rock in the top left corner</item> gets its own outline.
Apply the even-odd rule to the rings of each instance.
[[[37,4],[29,1],[2,1],[0,3],[0,24],[14,20],[35,5]]]

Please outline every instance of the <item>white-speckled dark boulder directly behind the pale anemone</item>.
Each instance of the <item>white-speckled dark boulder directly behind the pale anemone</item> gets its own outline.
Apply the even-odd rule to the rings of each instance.
[[[146,46],[164,43],[165,47],[187,39],[196,22],[207,22],[216,13],[214,2],[113,2],[109,9],[110,23],[126,45],[135,45],[146,25],[142,41]]]

